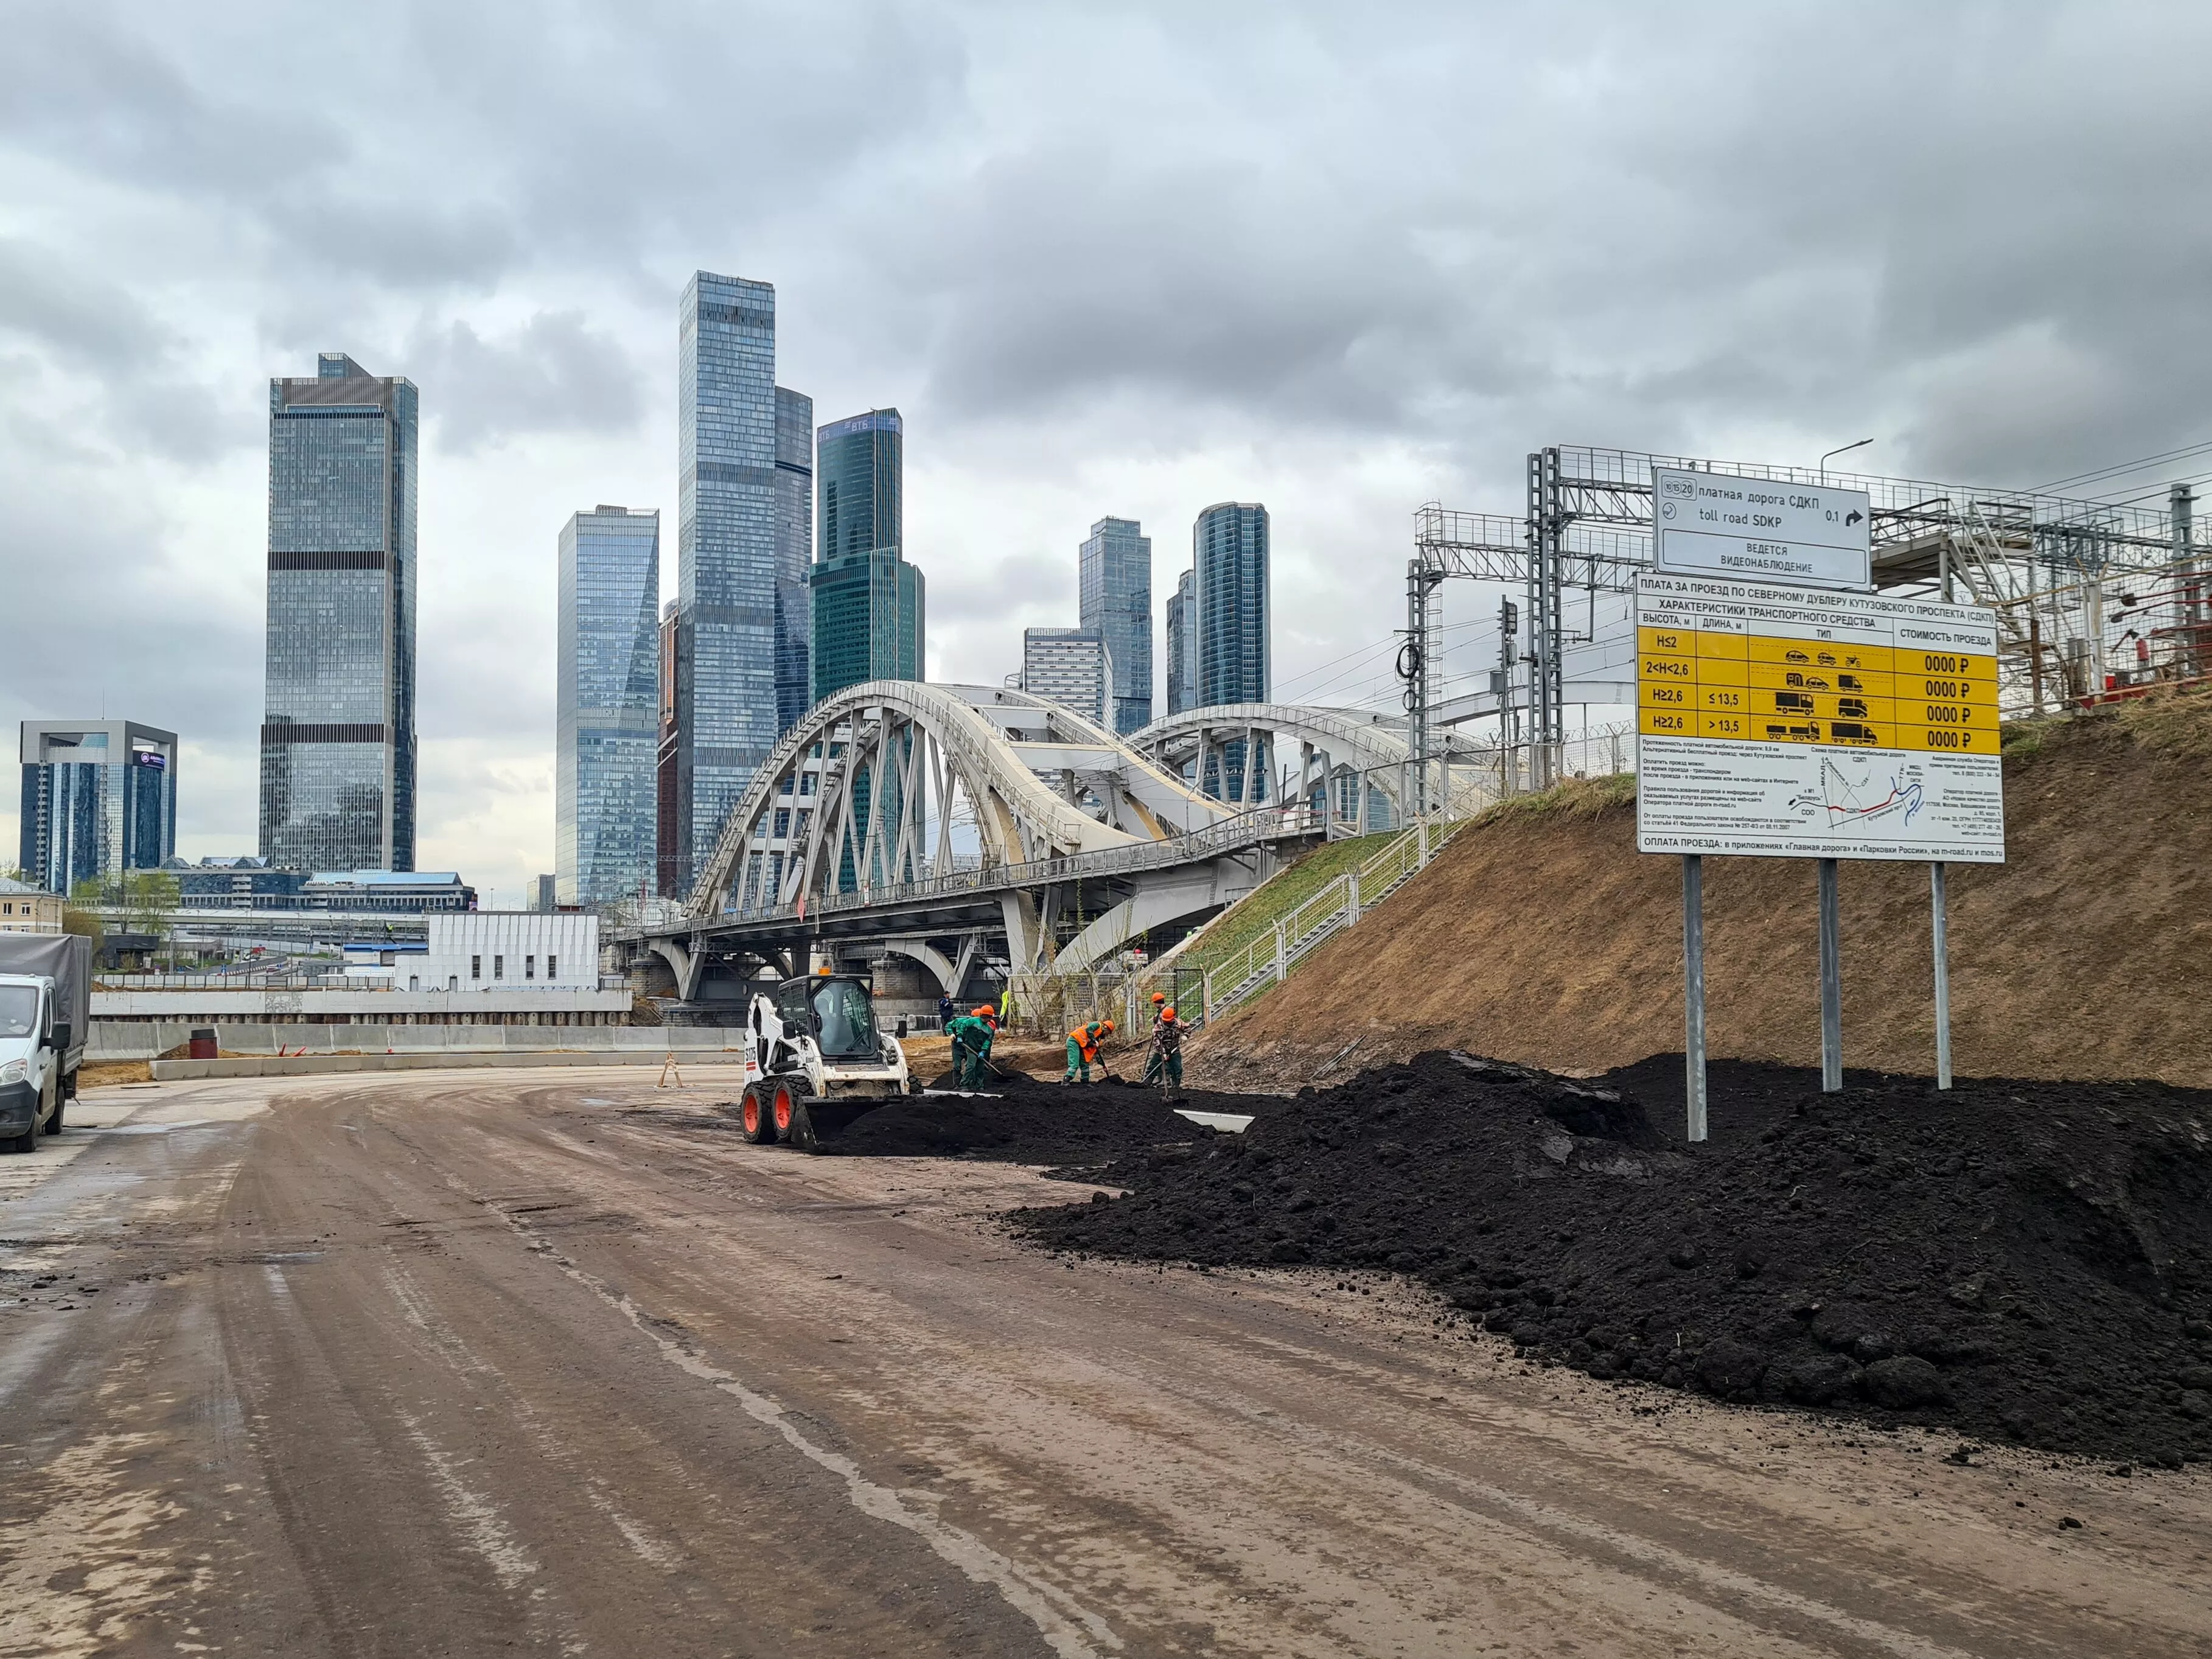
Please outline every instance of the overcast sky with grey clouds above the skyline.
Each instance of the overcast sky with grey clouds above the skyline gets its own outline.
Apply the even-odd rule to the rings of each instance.
[[[0,0],[0,730],[177,730],[195,858],[254,847],[268,378],[343,349],[422,394],[418,863],[487,902],[553,867],[555,533],[659,507],[672,591],[697,268],[776,285],[816,418],[905,414],[933,679],[1073,622],[1106,513],[1157,606],[1201,507],[1265,502],[1276,692],[1356,699],[1413,509],[1520,511],[1544,442],[1871,434],[1867,471],[2033,484],[2212,436],[2203,4]]]

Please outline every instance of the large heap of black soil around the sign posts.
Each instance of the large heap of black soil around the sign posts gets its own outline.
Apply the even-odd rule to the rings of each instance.
[[[2212,1093],[1429,1053],[1152,1148],[1053,1248],[1391,1267],[1531,1358],[1728,1400],[2212,1460]]]

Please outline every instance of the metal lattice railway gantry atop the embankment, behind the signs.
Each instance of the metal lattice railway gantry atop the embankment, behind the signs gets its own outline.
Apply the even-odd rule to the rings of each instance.
[[[1632,449],[1553,445],[1528,456],[1522,515],[1460,513],[1436,502],[1413,515],[1407,566],[1407,630],[1418,646],[1407,675],[1411,741],[1436,765],[1429,710],[1436,701],[1433,591],[1447,577],[1520,586],[1526,595],[1522,690],[1531,781],[1553,783],[1566,717],[1564,595],[1630,593],[1650,568],[1652,469],[1765,478],[1863,489],[1869,498],[1874,582],[1922,588],[1997,611],[2002,668],[2017,701],[2042,706],[2046,672],[2064,697],[2104,688],[2097,664],[2112,626],[2141,622],[2121,639],[2148,661],[2152,637],[2170,646],[2172,677],[2205,672],[2212,606],[2199,580],[2192,500],[2177,487],[2166,507],[2093,502],[2042,491],[1971,489],[1911,478],[1767,467],[1736,460],[1655,456]],[[2108,606],[2119,580],[2124,606]]]

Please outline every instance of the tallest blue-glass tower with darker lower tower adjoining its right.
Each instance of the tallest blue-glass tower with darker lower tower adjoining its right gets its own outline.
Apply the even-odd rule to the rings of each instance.
[[[776,387],[776,290],[697,272],[677,316],[677,887],[805,699],[812,418]]]

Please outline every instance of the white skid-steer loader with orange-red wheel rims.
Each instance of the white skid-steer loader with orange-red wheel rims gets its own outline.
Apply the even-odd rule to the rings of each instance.
[[[754,1146],[821,1152],[856,1117],[920,1084],[898,1037],[876,1029],[865,978],[816,973],[757,991],[745,1004],[745,1093],[737,1119]]]

